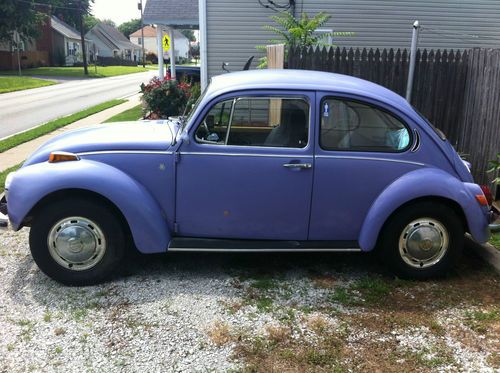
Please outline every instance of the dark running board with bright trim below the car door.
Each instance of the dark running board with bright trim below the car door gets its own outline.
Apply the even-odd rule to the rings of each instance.
[[[168,251],[198,252],[360,252],[356,241],[275,241],[214,238],[172,239]]]

